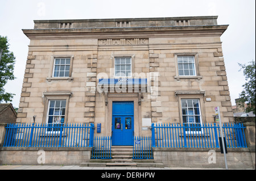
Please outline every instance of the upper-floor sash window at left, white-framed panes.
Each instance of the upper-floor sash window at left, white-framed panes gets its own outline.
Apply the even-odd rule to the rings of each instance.
[[[69,77],[70,58],[55,58],[52,77]]]

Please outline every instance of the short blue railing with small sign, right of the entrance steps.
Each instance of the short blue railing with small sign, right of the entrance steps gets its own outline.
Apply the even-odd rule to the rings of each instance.
[[[151,137],[135,136],[133,140],[133,159],[153,159]]]

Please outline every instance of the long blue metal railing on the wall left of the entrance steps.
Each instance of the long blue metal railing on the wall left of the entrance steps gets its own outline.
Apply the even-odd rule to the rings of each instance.
[[[92,147],[93,124],[8,124],[5,147]]]

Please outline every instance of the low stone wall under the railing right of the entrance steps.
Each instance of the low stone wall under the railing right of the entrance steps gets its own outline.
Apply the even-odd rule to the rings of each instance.
[[[154,161],[167,167],[225,168],[220,148],[153,148]],[[254,148],[228,148],[229,169],[255,169]]]

